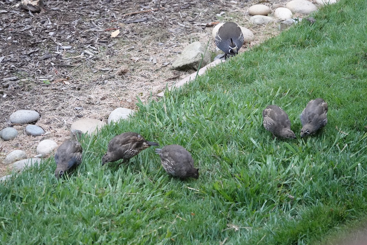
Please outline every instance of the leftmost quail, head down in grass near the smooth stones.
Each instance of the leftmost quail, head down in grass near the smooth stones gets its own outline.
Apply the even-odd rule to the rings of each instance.
[[[83,149],[78,141],[65,141],[55,152],[55,176],[61,177],[66,171],[74,169],[81,163]]]

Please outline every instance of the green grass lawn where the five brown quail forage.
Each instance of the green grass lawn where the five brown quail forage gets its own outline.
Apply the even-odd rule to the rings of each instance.
[[[367,1],[313,17],[83,138],[69,178],[51,157],[0,184],[0,243],[314,244],[367,217]],[[299,115],[319,97],[328,124],[301,139]],[[297,140],[264,129],[269,104]],[[153,147],[102,167],[126,131],[182,145],[199,179],[168,176]]]

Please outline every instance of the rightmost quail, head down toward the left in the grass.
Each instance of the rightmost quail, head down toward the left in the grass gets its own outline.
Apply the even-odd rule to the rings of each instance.
[[[327,123],[327,103],[322,98],[311,100],[300,116],[302,129],[301,137],[315,133]]]

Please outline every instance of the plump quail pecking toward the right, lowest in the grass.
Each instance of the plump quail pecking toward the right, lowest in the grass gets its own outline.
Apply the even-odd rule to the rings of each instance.
[[[190,152],[181,145],[166,145],[162,149],[156,148],[156,153],[159,154],[162,166],[167,173],[182,180],[188,177],[199,178],[199,169],[194,168],[194,160]]]

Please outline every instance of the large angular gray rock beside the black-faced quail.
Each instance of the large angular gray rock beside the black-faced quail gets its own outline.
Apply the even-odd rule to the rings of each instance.
[[[203,55],[201,67],[206,66],[211,62],[211,57],[209,50],[205,52],[205,49],[206,45],[200,42],[189,44],[182,50],[177,60],[173,62],[171,69],[177,71],[197,70],[201,61],[201,55]]]

